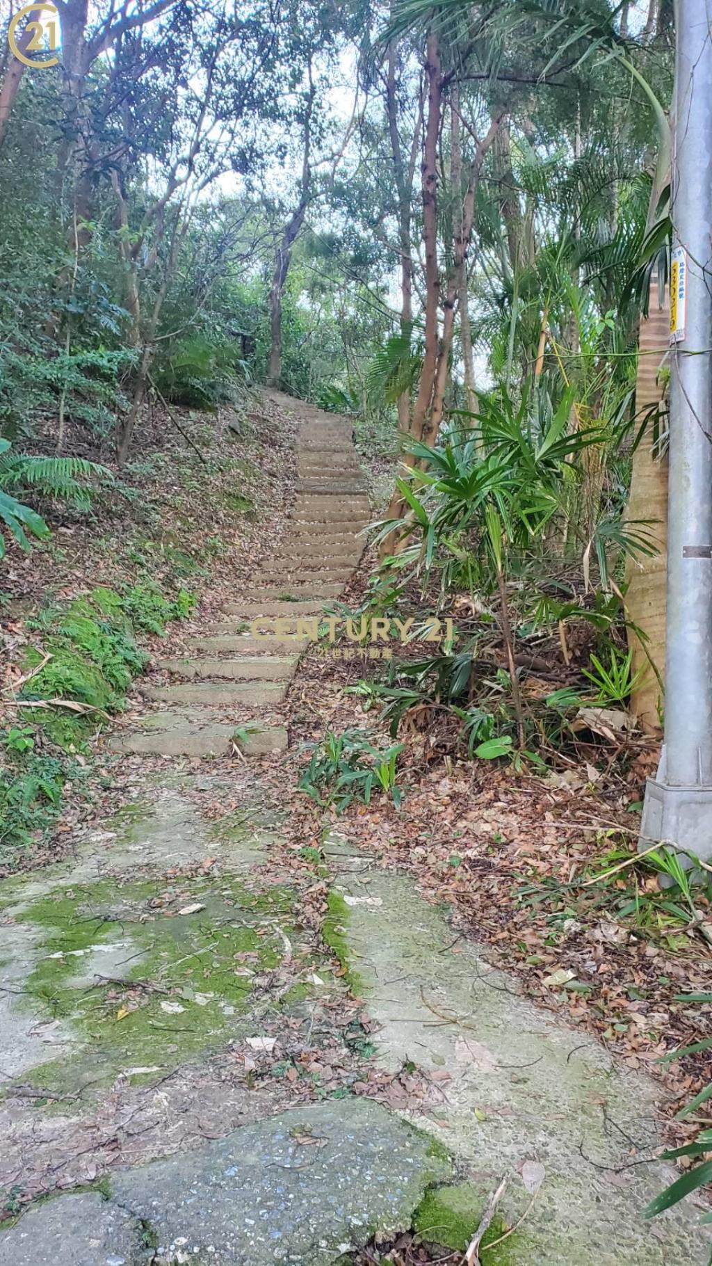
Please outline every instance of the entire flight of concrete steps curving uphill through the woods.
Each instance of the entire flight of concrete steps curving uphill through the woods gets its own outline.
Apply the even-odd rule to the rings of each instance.
[[[167,708],[116,734],[114,751],[219,756],[235,746],[245,755],[287,747],[274,710],[309,641],[295,636],[296,622],[341,594],[363,553],[369,505],[350,424],[281,392],[269,399],[300,420],[288,530],[239,600],[225,604],[224,619],[190,639],[190,655],[159,662],[171,682],[144,685],[143,694]],[[288,624],[276,628],[277,620]]]

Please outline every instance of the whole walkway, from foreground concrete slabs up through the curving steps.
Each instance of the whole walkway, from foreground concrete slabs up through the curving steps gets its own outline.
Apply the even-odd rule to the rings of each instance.
[[[118,733],[144,799],[0,884],[0,1190],[9,1214],[57,1196],[0,1231],[0,1266],[348,1263],[414,1225],[462,1239],[503,1172],[524,1223],[483,1266],[704,1266],[697,1208],[641,1217],[669,1180],[641,1163],[651,1082],[333,832],[329,944],[304,918],[249,753],[287,744],[301,643],[274,622],[339,596],[368,499],[348,424],[273,399],[302,419],[290,530]]]

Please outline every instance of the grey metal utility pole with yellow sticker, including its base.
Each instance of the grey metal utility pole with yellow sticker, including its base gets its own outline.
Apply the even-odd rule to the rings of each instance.
[[[641,847],[712,856],[712,0],[678,0],[665,737]]]

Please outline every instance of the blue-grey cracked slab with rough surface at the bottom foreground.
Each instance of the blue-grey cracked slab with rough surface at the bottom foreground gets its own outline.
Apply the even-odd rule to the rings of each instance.
[[[199,1152],[120,1171],[113,1200],[148,1223],[157,1262],[330,1266],[402,1231],[450,1162],[371,1099],[305,1104]]]

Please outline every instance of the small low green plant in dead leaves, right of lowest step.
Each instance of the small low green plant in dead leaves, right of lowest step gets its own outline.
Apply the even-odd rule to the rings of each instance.
[[[353,801],[371,803],[374,790],[390,795],[396,808],[401,803],[397,785],[397,760],[402,743],[379,748],[371,741],[371,732],[345,729],[328,733],[314,744],[309,766],[302,772],[298,789],[321,808],[334,805],[338,813]]]

